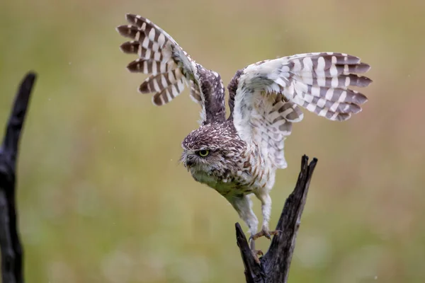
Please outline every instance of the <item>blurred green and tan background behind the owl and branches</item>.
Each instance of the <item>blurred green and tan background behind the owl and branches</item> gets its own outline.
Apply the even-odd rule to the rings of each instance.
[[[18,81],[39,74],[18,164],[28,282],[244,282],[237,213],[178,163],[198,105],[188,91],[162,108],[137,93],[145,77],[125,69],[133,57],[115,32],[125,13],[157,23],[226,84],[295,53],[372,65],[361,114],[306,112],[294,127],[271,226],[300,157],[315,156],[290,282],[425,282],[424,1],[6,0],[1,125]]]

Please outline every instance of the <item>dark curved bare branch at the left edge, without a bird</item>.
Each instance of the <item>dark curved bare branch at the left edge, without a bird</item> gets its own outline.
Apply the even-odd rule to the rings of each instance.
[[[3,283],[23,283],[23,249],[16,214],[16,158],[35,74],[28,73],[16,94],[0,147],[0,246]]]

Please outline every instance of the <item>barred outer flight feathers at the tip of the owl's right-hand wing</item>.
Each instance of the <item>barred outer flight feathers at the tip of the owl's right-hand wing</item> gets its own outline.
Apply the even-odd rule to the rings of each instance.
[[[348,120],[361,112],[368,99],[349,87],[365,87],[372,81],[358,76],[370,69],[358,57],[341,53],[295,55],[290,65],[289,86],[283,93],[293,102],[329,120]]]

